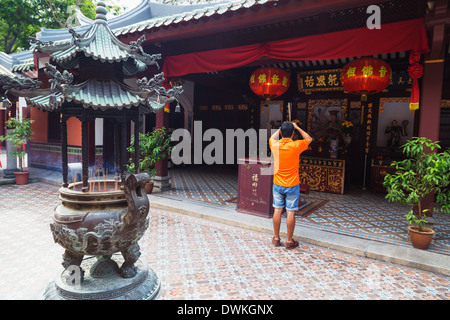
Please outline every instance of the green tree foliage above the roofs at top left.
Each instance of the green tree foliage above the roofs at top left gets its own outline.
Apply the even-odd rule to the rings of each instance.
[[[29,49],[29,37],[42,27],[67,28],[78,7],[86,17],[95,18],[93,0],[0,0],[0,51],[13,53]],[[120,14],[123,8],[108,6],[109,12]]]

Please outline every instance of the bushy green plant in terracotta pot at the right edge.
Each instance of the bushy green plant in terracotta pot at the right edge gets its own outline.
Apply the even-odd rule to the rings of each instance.
[[[383,185],[387,189],[386,199],[410,206],[405,215],[410,226],[409,235],[413,247],[428,249],[434,231],[425,227],[426,213],[422,200],[434,194],[435,203],[443,213],[450,212],[450,151],[437,152],[438,142],[425,137],[414,137],[402,147],[406,159],[394,161],[393,174],[387,174]],[[428,148],[431,152],[426,152]]]

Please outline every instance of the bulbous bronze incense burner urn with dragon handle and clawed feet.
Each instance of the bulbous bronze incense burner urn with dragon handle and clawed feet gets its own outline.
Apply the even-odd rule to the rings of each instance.
[[[66,249],[64,268],[80,266],[85,255],[107,257],[120,252],[125,261],[119,274],[136,275],[134,263],[141,254],[137,242],[148,227],[149,200],[144,189],[148,181],[149,175],[140,173],[129,175],[123,189],[111,180],[99,181],[100,190],[91,192],[81,191],[81,183],[60,189],[61,204],[50,227],[55,242]]]

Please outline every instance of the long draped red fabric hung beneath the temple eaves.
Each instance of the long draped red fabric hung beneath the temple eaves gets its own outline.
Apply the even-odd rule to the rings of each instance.
[[[262,44],[169,56],[166,78],[245,66],[262,57],[295,60],[332,60],[399,51],[429,51],[424,19],[384,24],[381,29],[358,28]]]

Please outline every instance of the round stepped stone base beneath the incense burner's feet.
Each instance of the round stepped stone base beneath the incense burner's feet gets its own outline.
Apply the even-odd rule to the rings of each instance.
[[[101,258],[103,259],[103,258]],[[123,263],[121,255],[113,255],[118,265]],[[102,263],[104,265],[104,263]],[[71,272],[64,270],[59,277],[47,286],[45,300],[154,300],[158,297],[161,283],[156,273],[140,260],[135,263],[136,276],[123,278],[117,272],[101,272],[96,257],[88,257],[81,263],[83,270],[97,270],[94,276],[86,272],[79,284],[70,284]],[[115,269],[114,263],[108,263]],[[104,267],[101,267],[104,269]]]

